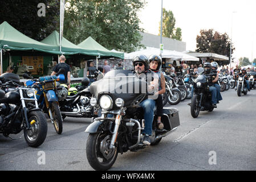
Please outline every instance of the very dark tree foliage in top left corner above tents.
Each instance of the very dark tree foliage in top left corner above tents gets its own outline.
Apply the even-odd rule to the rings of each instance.
[[[46,16],[38,16],[39,3],[44,3]],[[0,7],[0,23],[6,21],[32,39],[40,41],[58,27],[58,0],[9,0]]]

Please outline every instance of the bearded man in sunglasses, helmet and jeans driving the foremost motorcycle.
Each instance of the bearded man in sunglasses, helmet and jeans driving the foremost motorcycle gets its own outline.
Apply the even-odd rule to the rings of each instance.
[[[158,90],[158,80],[157,75],[149,70],[149,63],[148,57],[145,55],[136,56],[132,63],[134,67],[133,73],[136,77],[144,79],[148,82],[148,90],[152,91],[157,88]],[[151,98],[147,98],[146,100],[140,103],[140,106],[143,108],[144,111],[144,119],[145,119],[145,128],[143,130],[144,144],[151,144],[149,136],[152,135],[152,123],[154,117],[154,109],[156,107],[155,100]]]

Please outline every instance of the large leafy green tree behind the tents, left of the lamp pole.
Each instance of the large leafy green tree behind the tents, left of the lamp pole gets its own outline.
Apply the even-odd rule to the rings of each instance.
[[[144,0],[67,0],[63,36],[78,44],[91,36],[102,46],[135,51],[142,36],[137,13]]]

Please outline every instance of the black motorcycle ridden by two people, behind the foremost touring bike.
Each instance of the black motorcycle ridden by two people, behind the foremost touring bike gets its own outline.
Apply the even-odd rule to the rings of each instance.
[[[200,110],[213,111],[212,94],[209,90],[208,77],[216,76],[216,73],[198,75],[194,80],[194,93],[191,101],[190,113],[193,118],[197,118]]]

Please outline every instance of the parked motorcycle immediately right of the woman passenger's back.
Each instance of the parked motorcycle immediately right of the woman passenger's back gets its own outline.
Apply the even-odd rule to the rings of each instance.
[[[164,75],[165,77],[165,93],[166,97],[164,101],[168,101],[170,105],[176,105],[181,101],[181,91],[177,88],[176,82],[170,76]]]

